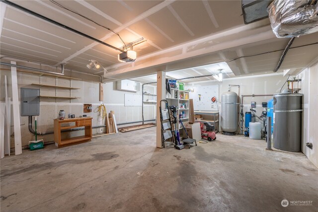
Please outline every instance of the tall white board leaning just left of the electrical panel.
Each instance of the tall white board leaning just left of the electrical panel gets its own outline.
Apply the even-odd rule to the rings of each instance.
[[[16,65],[11,61],[11,64]],[[14,124],[14,150],[15,154],[22,153],[21,145],[21,128],[20,128],[20,110],[18,97],[18,80],[16,76],[16,68],[11,67],[11,84],[12,84],[12,102],[13,102],[13,124]]]

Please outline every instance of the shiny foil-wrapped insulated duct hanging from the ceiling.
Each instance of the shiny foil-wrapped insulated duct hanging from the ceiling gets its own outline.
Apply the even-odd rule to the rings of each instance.
[[[267,7],[278,38],[292,38],[318,31],[317,0],[274,0]]]

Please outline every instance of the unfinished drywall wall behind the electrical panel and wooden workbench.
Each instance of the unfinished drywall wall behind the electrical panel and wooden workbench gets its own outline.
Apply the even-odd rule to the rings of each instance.
[[[1,89],[0,89],[0,101],[4,102],[4,77],[8,77],[8,96],[12,97],[11,93],[11,77],[10,71],[7,70],[7,67],[1,67]],[[87,76],[88,78],[89,76]],[[64,110],[66,116],[69,112],[75,114],[76,116],[83,115],[83,104],[92,104],[92,111],[94,111],[99,105],[99,83],[86,82],[79,80],[70,80],[63,78],[55,78],[51,76],[40,76],[31,73],[17,72],[18,80],[18,92],[20,99],[20,88],[29,87],[29,88],[38,88],[37,86],[31,85],[31,83],[43,83],[50,85],[60,85],[60,86],[71,86],[79,87],[80,89],[69,90],[69,89],[55,89],[51,87],[41,87],[41,95],[50,95],[50,96],[76,96],[80,97],[79,99],[67,100],[67,99],[55,99],[55,98],[40,98],[40,116],[37,117],[38,132],[53,132],[54,124],[53,119],[58,117],[60,110]],[[142,91],[139,92],[128,92],[117,90],[116,82],[103,84],[104,87],[104,104],[106,110],[109,113],[111,110],[115,112],[116,122],[126,123],[142,120],[142,107],[138,106],[124,106],[124,94],[133,93],[142,95]],[[156,86],[145,86],[146,90],[154,93],[157,89]],[[19,103],[20,106],[20,103]],[[156,113],[156,104],[147,104],[144,107],[145,111],[145,120],[155,119]],[[98,126],[97,123],[97,113],[85,113],[87,116],[93,117],[92,125]],[[2,117],[1,117],[2,119]],[[28,141],[34,141],[34,136],[28,130],[28,117],[21,117],[21,135],[22,135],[22,146],[28,145]],[[105,120],[103,120],[104,124]],[[13,115],[11,112],[11,123],[13,123]],[[137,123],[141,124],[141,123]],[[13,124],[12,124],[13,125]],[[136,125],[136,124],[135,124]],[[125,125],[123,125],[125,126]],[[127,125],[126,125],[127,126]],[[34,129],[34,117],[33,117],[33,129]],[[93,129],[93,134],[103,133],[105,128],[102,129]],[[13,127],[11,127],[11,135],[13,135]],[[83,134],[83,131],[77,131],[72,133],[63,133],[63,137],[78,136]],[[45,142],[54,141],[54,134],[49,134],[46,136],[38,136],[38,139],[44,139]],[[14,137],[11,137],[11,146],[14,146]]]

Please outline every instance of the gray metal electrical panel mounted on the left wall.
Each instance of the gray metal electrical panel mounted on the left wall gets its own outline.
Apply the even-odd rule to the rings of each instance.
[[[40,89],[21,88],[21,116],[40,115]]]

